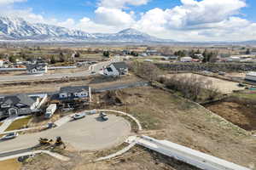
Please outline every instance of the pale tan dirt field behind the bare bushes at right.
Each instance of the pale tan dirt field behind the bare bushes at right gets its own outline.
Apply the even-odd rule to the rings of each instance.
[[[172,76],[172,75],[170,75],[170,76]],[[221,79],[218,79],[218,78],[213,78],[213,77],[205,77],[205,76],[201,76],[201,75],[195,75],[195,74],[192,74],[192,73],[182,73],[182,74],[177,74],[177,76],[180,76],[180,77],[195,76],[195,77],[201,78],[201,80],[204,81],[204,82],[211,81],[212,86],[214,88],[218,88],[218,90],[223,94],[230,94],[230,93],[232,93],[233,90],[242,90],[242,89],[244,89],[244,88],[238,87],[237,82],[224,81],[224,80],[221,80]]]

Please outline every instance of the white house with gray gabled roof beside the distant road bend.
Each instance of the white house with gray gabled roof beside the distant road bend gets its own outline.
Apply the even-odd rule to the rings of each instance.
[[[112,76],[117,77],[121,75],[127,75],[128,74],[128,66],[125,64],[125,62],[117,62],[112,63],[108,65],[103,70],[103,75],[105,76]]]

